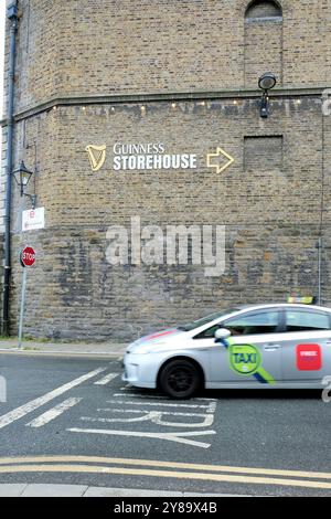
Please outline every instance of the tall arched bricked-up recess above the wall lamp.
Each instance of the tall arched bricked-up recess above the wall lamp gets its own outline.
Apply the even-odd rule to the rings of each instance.
[[[245,86],[256,87],[268,71],[282,83],[282,9],[274,0],[254,0],[245,11]]]

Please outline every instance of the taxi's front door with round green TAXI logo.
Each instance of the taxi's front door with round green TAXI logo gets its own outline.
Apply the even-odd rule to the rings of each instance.
[[[281,380],[281,352],[278,340],[280,311],[277,307],[259,309],[224,319],[200,333],[203,345],[213,341],[210,348],[210,377],[213,386],[275,384]],[[217,327],[232,331],[226,341],[216,342]]]

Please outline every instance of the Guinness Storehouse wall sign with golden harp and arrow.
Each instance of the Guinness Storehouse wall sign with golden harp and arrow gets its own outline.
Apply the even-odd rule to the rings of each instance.
[[[106,145],[88,145],[85,151],[88,153],[92,170],[98,171],[106,161]],[[196,153],[171,153],[162,142],[116,142],[113,147],[114,171],[192,170],[204,166],[221,173],[233,162],[234,158],[218,146],[206,153],[201,165]]]

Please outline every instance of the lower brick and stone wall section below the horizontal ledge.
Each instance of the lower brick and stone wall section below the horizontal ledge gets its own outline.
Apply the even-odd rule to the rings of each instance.
[[[33,142],[39,144],[35,189],[38,204],[46,208],[45,230],[29,233],[38,262],[29,272],[26,331],[129,339],[139,330],[148,332],[225,305],[317,294],[316,242],[325,161],[321,144],[323,134],[330,140],[330,123],[325,118],[322,131],[316,98],[300,105],[276,99],[271,114],[261,120],[258,102],[252,100],[186,102],[175,107],[149,103],[145,110],[137,104],[115,109],[58,107],[20,124],[17,146],[30,165]],[[271,152],[279,153],[279,139],[282,160],[268,161]],[[269,147],[261,145],[265,140]],[[114,171],[115,142],[149,141],[162,142],[167,152],[196,153],[197,170]],[[85,151],[89,144],[107,146],[105,165],[96,172]],[[235,159],[220,174],[206,166],[206,153],[217,146]],[[322,280],[328,303],[331,193],[324,181]],[[15,191],[13,205],[24,203]],[[141,226],[160,225],[164,235],[169,224],[225,225],[225,273],[205,277],[203,265],[109,265],[107,229],[124,225],[129,231],[131,216],[140,216]],[[13,221],[18,257],[26,233],[20,232],[19,216]],[[15,262],[14,327],[20,279]]]

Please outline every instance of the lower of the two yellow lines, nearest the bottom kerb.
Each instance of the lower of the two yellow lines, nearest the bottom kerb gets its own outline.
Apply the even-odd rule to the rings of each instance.
[[[121,468],[88,465],[12,465],[1,466],[0,474],[7,473],[93,473],[120,474],[127,476],[152,476],[161,478],[201,479],[205,481],[242,483],[245,485],[280,485],[285,487],[306,487],[331,489],[331,483],[308,479],[280,479],[271,477],[231,476],[225,474],[185,473],[173,470],[150,470],[143,468]]]

